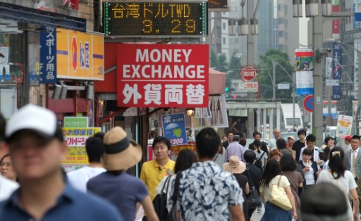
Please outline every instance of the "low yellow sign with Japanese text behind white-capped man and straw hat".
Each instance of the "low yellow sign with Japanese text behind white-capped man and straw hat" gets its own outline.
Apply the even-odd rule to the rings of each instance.
[[[61,162],[61,165],[87,165],[89,162],[85,150],[85,141],[88,137],[100,132],[100,127],[63,127],[61,130],[68,146],[66,158]]]

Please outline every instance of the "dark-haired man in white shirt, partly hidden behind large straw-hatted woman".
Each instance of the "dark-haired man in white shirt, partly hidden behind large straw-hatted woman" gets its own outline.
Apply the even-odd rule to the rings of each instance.
[[[94,137],[89,137],[85,143],[89,165],[79,170],[68,172],[67,174],[71,185],[79,191],[86,193],[88,180],[106,171],[100,161],[104,152],[102,136],[104,136],[104,134],[99,135],[99,133],[97,133]]]

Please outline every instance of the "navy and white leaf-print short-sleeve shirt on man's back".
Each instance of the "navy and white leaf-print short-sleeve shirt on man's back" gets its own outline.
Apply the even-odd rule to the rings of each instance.
[[[171,185],[173,193],[174,184]],[[176,209],[181,220],[232,220],[229,207],[243,203],[242,191],[230,172],[212,161],[193,163],[182,172]],[[167,202],[168,207],[173,201]]]

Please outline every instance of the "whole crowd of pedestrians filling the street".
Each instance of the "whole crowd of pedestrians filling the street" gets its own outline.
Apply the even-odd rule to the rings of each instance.
[[[247,144],[207,127],[195,137],[197,152],[184,149],[176,162],[169,139],[157,135],[155,159],[137,178],[127,170],[142,148],[114,127],[88,138],[89,164],[65,174],[56,115],[27,105],[7,123],[0,115],[0,220],[250,221],[262,206],[264,221],[359,220],[360,137],[345,137],[343,149],[333,137],[314,146],[306,134],[298,130],[295,141],[274,130],[267,144],[254,132]]]

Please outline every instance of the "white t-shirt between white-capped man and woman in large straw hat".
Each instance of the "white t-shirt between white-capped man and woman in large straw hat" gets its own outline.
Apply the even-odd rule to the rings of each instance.
[[[68,176],[69,182],[75,189],[86,193],[87,182],[89,181],[89,179],[92,179],[92,177],[96,177],[97,175],[105,171],[106,170],[104,168],[84,167],[79,170],[68,172],[66,175]]]

